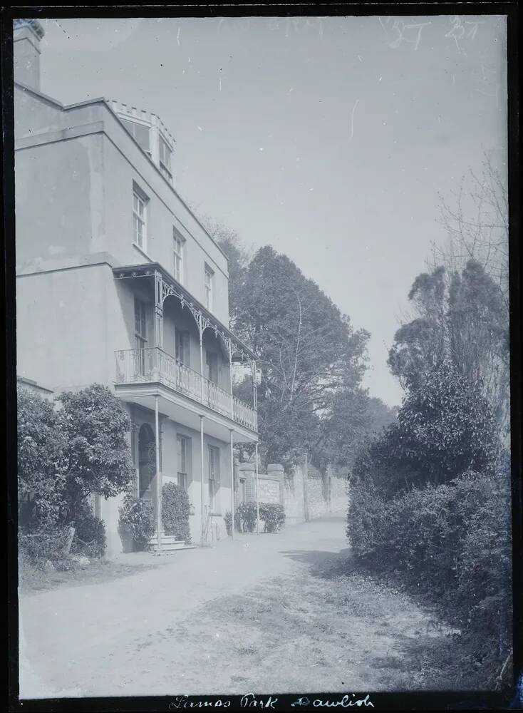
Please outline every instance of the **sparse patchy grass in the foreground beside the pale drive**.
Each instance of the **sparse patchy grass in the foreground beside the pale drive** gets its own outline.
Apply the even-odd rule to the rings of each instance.
[[[266,580],[192,612],[180,655],[169,652],[184,691],[467,689],[455,685],[459,657],[449,658],[444,624],[403,593],[340,571]],[[198,673],[202,657],[212,679]]]

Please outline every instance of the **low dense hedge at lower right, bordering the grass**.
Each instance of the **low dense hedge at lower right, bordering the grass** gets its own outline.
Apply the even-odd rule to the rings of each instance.
[[[465,670],[489,676],[510,646],[509,518],[506,473],[467,471],[390,500],[372,480],[356,481],[347,533],[356,556],[374,570],[445,606],[469,642]]]

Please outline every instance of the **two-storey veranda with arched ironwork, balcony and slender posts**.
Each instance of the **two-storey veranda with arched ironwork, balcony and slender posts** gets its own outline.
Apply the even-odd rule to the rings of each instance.
[[[136,495],[152,501],[158,553],[167,482],[185,488],[195,508],[193,539],[207,543],[214,528],[224,529],[224,513],[234,512],[234,443],[257,448],[255,355],[160,265],[113,272],[125,316],[113,379],[133,422]],[[252,404],[233,392],[234,366],[241,369],[240,394],[252,396]],[[192,453],[191,473],[174,450],[180,438]],[[219,453],[227,463],[221,476]]]

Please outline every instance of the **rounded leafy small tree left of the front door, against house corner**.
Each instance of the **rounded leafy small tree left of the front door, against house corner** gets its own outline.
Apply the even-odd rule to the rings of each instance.
[[[60,396],[57,426],[66,439],[61,463],[68,515],[91,493],[109,498],[133,478],[127,433],[130,419],[106,386],[93,384]]]

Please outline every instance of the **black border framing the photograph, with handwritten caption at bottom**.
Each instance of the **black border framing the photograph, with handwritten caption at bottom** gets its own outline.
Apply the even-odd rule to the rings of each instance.
[[[84,699],[34,699],[19,701],[18,642],[18,567],[17,567],[17,488],[16,488],[16,288],[14,221],[14,117],[13,117],[13,41],[12,21],[17,17],[217,17],[217,16],[370,16],[370,15],[470,15],[507,16],[508,63],[508,175],[509,175],[509,270],[510,270],[510,383],[511,383],[511,458],[512,458],[512,533],[513,533],[513,660],[514,681],[508,690],[485,692],[319,692],[299,695],[284,692],[256,692],[269,709],[312,710],[315,702],[331,702],[331,707],[369,707],[382,710],[462,710],[522,709],[523,707],[523,568],[522,568],[522,446],[521,446],[521,255],[519,244],[519,73],[517,2],[499,3],[286,3],[264,4],[125,4],[120,6],[11,6],[2,9],[0,26],[2,132],[4,137],[4,298],[6,310],[6,461],[7,540],[9,601],[9,710],[11,711],[162,711],[187,707],[243,709],[240,696],[191,696],[177,702],[176,696],[110,697]],[[246,692],[247,693],[247,692]],[[180,695],[182,692],[180,692]],[[347,696],[343,704],[343,696]],[[271,699],[269,699],[271,697]],[[366,699],[367,697],[367,699]],[[277,699],[277,700],[276,700]],[[272,704],[271,704],[272,701]],[[308,703],[306,703],[308,701]],[[359,704],[357,703],[359,701]],[[200,704],[199,704],[200,702]],[[204,702],[207,705],[204,706]],[[220,704],[221,702],[221,704]],[[229,702],[228,704],[226,702]],[[336,703],[338,702],[338,703]],[[341,703],[340,703],[341,702]],[[352,702],[352,703],[351,703]],[[192,703],[192,706],[190,705]],[[293,706],[294,704],[294,706]],[[256,709],[261,706],[258,704]]]

